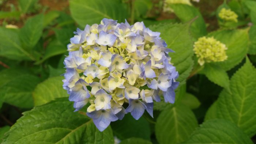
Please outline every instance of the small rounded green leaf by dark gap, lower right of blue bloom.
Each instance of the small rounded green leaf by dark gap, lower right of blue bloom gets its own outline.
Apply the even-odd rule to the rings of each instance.
[[[190,109],[197,109],[201,103],[200,101],[196,98],[196,96],[186,93],[184,97],[181,99],[181,102],[188,106]]]

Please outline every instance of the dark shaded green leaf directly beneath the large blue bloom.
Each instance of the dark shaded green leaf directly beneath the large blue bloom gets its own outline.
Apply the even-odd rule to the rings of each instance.
[[[125,114],[123,120],[111,122],[113,133],[120,140],[131,137],[139,137],[145,140],[150,140],[150,126],[148,121],[141,117],[135,120],[130,113]]]

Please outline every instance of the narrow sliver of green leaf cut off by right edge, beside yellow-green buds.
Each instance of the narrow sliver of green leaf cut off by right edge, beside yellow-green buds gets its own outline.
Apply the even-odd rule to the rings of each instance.
[[[248,54],[256,54],[256,26],[253,25],[249,30],[249,50]]]

